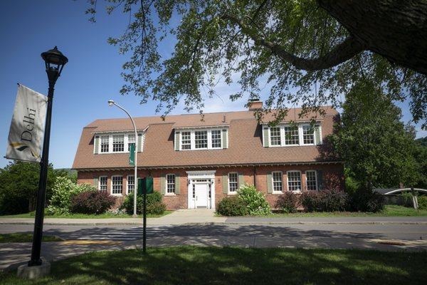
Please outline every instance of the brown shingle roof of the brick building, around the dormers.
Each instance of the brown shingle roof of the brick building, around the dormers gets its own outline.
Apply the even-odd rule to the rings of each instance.
[[[322,117],[322,135],[332,133],[333,117],[337,111],[325,107]],[[288,120],[298,119],[291,110]],[[226,121],[223,122],[223,116]],[[251,111],[206,113],[204,121],[199,114],[170,115],[165,120],[159,117],[135,118],[139,130],[147,128],[144,151],[138,153],[139,167],[177,167],[206,165],[245,165],[266,163],[316,162],[322,160],[320,146],[263,147],[261,126]],[[228,125],[228,149],[221,150],[174,150],[174,128]],[[94,133],[105,131],[132,130],[129,119],[95,120],[83,128],[78,150],[73,163],[74,169],[97,169],[130,167],[128,153],[93,154]]]

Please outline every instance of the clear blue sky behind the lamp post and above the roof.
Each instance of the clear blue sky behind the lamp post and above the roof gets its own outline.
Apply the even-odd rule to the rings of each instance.
[[[132,115],[155,115],[155,103],[139,105],[139,98],[122,96],[122,63],[125,57],[107,44],[109,36],[120,35],[128,18],[120,13],[107,16],[98,9],[97,23],[85,15],[85,0],[14,0],[3,1],[0,10],[0,167],[8,164],[3,158],[16,98],[16,83],[47,94],[47,76],[40,53],[58,46],[69,62],[56,83],[53,100],[50,162],[54,167],[71,167],[82,128],[97,118],[124,118],[118,108],[109,108],[113,99]],[[172,45],[161,46],[163,53]],[[204,112],[243,110],[246,98],[231,102],[228,95],[238,86],[220,84],[218,97],[208,99]],[[404,120],[411,120],[407,103],[398,104]],[[184,113],[178,105],[174,113]],[[419,125],[417,130],[419,130]],[[418,132],[418,137],[427,135]]]

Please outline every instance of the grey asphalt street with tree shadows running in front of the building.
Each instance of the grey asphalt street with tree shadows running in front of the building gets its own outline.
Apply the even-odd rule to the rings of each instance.
[[[32,232],[32,225],[0,224],[0,233]],[[45,225],[44,233],[65,240],[142,239],[142,226]],[[426,240],[427,224],[198,224],[149,226],[147,237],[283,237],[305,239],[339,237],[355,239]]]

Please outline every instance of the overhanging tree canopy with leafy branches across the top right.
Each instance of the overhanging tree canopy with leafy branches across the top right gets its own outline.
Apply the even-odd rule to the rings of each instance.
[[[97,0],[89,3],[95,21]],[[262,120],[275,108],[275,121],[295,104],[302,103],[302,113],[338,106],[359,82],[370,81],[389,98],[410,99],[413,120],[427,127],[427,78],[420,64],[426,59],[425,1],[107,3],[109,14],[121,9],[130,19],[122,35],[108,39],[130,54],[121,93],[139,95],[141,103],[156,100],[164,115],[179,101],[186,110],[203,110],[204,99],[218,95],[218,81],[240,84],[232,100],[258,98],[270,89],[264,110],[255,115]],[[172,56],[161,53],[161,43],[174,44]]]

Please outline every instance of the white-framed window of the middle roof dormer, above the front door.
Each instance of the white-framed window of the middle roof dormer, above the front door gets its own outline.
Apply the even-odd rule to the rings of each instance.
[[[227,148],[227,129],[175,130],[175,150],[217,150]]]

